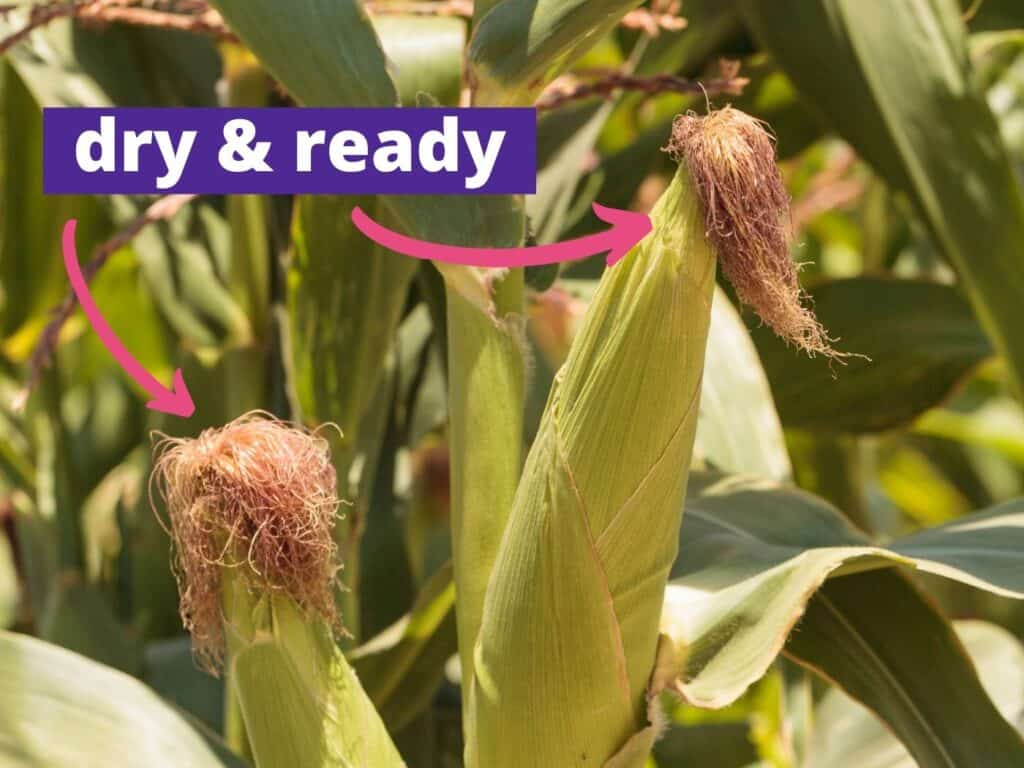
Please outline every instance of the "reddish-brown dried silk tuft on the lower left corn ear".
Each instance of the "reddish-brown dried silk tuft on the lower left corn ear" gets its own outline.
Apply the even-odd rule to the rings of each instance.
[[[343,632],[334,599],[337,478],[318,432],[254,412],[197,438],[159,436],[151,501],[154,489],[166,506],[181,620],[208,671],[223,659],[225,567]]]

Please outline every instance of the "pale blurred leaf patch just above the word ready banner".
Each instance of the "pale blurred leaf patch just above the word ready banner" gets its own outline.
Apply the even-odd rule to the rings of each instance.
[[[385,14],[374,19],[401,103],[416,105],[429,93],[439,103],[458,105],[466,23],[445,16]]]

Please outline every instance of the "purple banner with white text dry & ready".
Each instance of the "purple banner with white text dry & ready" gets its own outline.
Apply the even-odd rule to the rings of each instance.
[[[43,114],[48,195],[530,195],[531,109]]]

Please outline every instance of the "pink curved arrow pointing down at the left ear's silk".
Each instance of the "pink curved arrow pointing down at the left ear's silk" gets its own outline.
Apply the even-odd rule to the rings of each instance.
[[[82,305],[82,311],[85,312],[85,316],[88,317],[99,340],[103,342],[103,346],[114,355],[114,359],[153,397],[145,403],[145,407],[162,414],[172,414],[187,419],[196,413],[196,406],[193,403],[191,395],[188,393],[188,388],[181,376],[181,369],[174,372],[173,388],[165,387],[132,356],[131,352],[121,343],[118,335],[114,333],[114,329],[106,323],[99,307],[96,306],[92,294],[89,293],[89,286],[85,282],[85,278],[82,276],[82,269],[78,265],[78,254],[75,250],[75,227],[77,224],[75,219],[71,219],[65,224],[63,257],[68,279],[71,281],[72,290],[75,291],[79,304]]]

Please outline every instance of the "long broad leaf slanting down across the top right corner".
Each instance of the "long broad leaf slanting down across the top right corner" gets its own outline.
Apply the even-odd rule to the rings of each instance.
[[[1024,391],[1024,196],[973,81],[956,3],[740,5],[810,105],[914,202]]]

